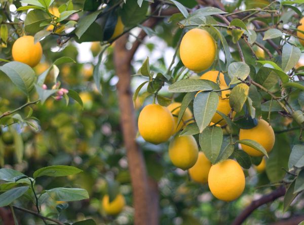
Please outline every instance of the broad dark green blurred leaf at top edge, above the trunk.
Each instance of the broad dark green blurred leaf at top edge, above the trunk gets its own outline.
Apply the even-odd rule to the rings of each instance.
[[[149,4],[144,1],[139,7],[136,1],[127,1],[121,10],[121,17],[126,27],[133,27],[141,23],[146,16]]]

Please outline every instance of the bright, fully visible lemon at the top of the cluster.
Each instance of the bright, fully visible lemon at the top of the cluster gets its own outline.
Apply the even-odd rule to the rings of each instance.
[[[201,72],[207,70],[214,62],[216,45],[206,30],[194,28],[183,36],[179,51],[186,68]]]

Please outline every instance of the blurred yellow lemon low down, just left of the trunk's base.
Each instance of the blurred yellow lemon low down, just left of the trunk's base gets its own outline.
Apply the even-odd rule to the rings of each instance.
[[[105,195],[102,198],[102,208],[108,215],[117,215],[123,211],[126,205],[125,197],[122,194],[116,196],[116,198],[109,202],[109,196]]]

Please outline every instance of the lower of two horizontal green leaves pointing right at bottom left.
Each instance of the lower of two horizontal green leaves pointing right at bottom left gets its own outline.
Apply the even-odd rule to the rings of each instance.
[[[71,202],[89,198],[88,191],[82,188],[56,187],[46,192],[55,201]]]

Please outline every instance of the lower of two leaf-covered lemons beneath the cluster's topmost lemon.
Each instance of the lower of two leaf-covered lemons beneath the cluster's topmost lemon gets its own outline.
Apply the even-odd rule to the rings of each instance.
[[[227,88],[227,86],[220,86],[221,89]],[[218,97],[218,105],[216,110],[227,115],[231,111],[231,106],[229,104],[229,99],[227,99],[226,94],[229,94],[230,90],[224,90],[221,91],[221,97]],[[235,113],[233,113],[233,116]],[[217,123],[219,120],[221,120],[223,117],[219,115],[218,113],[215,113],[211,119],[212,123]],[[226,125],[226,121],[223,119],[219,123],[217,123],[221,126]]]

